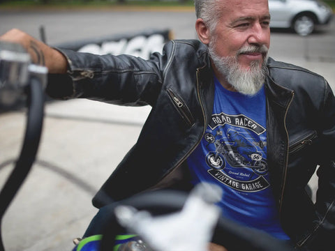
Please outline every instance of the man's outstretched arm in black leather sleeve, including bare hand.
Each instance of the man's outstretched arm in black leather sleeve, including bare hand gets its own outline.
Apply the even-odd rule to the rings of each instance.
[[[36,64],[49,70],[46,93],[61,100],[89,98],[115,105],[153,105],[163,83],[163,71],[171,55],[152,54],[145,60],[131,55],[97,55],[54,49],[20,30],[0,40],[19,43]]]

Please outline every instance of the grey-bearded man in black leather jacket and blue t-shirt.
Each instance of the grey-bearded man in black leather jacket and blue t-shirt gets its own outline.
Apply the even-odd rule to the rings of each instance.
[[[299,250],[333,250],[329,84],[267,57],[267,0],[196,0],[195,8],[200,41],[171,41],[148,61],[54,50],[17,30],[1,39],[19,41],[37,63],[45,61],[50,96],[152,106],[137,143],[94,197],[98,208],[144,190],[188,190],[207,181],[223,188],[226,217]],[[317,165],[313,204],[304,188]]]

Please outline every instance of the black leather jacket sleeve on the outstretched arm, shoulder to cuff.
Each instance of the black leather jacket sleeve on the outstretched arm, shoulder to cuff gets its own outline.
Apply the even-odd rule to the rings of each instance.
[[[165,45],[165,49],[168,46]],[[153,105],[167,61],[154,53],[149,60],[130,55],[96,55],[57,49],[68,61],[67,75],[50,75],[52,98],[89,98],[116,105]]]

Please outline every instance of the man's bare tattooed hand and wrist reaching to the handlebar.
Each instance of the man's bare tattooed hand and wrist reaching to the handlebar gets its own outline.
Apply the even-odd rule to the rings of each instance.
[[[0,36],[0,40],[22,45],[30,54],[32,63],[46,66],[49,73],[66,73],[67,61],[63,54],[29,34],[11,29]]]

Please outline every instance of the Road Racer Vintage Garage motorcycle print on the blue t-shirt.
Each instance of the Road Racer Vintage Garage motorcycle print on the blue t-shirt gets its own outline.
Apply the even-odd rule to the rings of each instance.
[[[265,132],[247,116],[212,114],[204,139],[208,151],[208,173],[217,181],[241,192],[257,192],[269,187]]]

